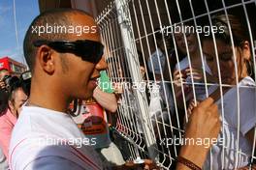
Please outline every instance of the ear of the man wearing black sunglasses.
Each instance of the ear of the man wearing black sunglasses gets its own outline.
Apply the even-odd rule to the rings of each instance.
[[[49,74],[52,74],[55,71],[55,59],[53,56],[54,52],[51,50],[48,45],[42,45],[38,49],[38,60],[41,68],[48,72]]]

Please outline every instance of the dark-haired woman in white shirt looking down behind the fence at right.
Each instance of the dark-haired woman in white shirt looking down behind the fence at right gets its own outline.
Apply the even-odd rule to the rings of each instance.
[[[246,65],[251,60],[251,49],[247,31],[238,17],[215,14],[211,21],[212,25],[221,26],[224,30],[214,34],[217,54],[212,37],[203,39],[208,67],[216,79],[215,85],[210,87],[215,89],[210,96],[218,105],[223,127],[218,142],[212,147],[212,160],[208,155],[204,167],[209,169],[212,161],[213,170],[236,169],[248,165],[254,141],[256,89]],[[229,32],[229,24],[232,33]],[[226,85],[222,88],[223,94],[220,94],[219,82]],[[221,109],[221,98],[224,110]]]

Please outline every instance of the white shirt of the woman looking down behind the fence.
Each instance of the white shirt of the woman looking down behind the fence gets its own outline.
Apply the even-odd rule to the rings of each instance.
[[[246,166],[248,164],[248,157],[251,156],[252,146],[245,138],[245,134],[256,126],[256,89],[252,87],[255,85],[251,77],[243,78],[240,83],[240,113],[238,112],[237,87],[233,87],[223,96],[224,113],[221,111],[220,99],[216,102],[218,104],[219,113],[224,114],[224,127],[218,136],[219,142],[212,146],[212,169],[235,169],[237,157],[237,145],[239,137],[239,154],[238,167]],[[238,121],[240,115],[240,122]],[[220,116],[222,119],[222,116]],[[238,126],[240,124],[239,136]],[[223,142],[224,139],[224,142]],[[224,144],[224,150],[223,150]],[[224,159],[222,159],[224,156]],[[224,160],[224,161],[223,161]],[[222,162],[223,161],[223,162]],[[223,164],[223,167],[221,165]],[[206,170],[210,169],[209,155],[204,166]]]

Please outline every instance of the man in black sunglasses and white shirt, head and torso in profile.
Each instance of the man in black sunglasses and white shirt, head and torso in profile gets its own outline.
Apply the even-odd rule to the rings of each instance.
[[[14,128],[10,168],[103,169],[89,140],[66,113],[72,99],[88,99],[97,86],[103,45],[99,33],[37,34],[42,25],[95,27],[94,19],[72,9],[37,16],[24,40],[24,55],[32,72],[31,93]]]

